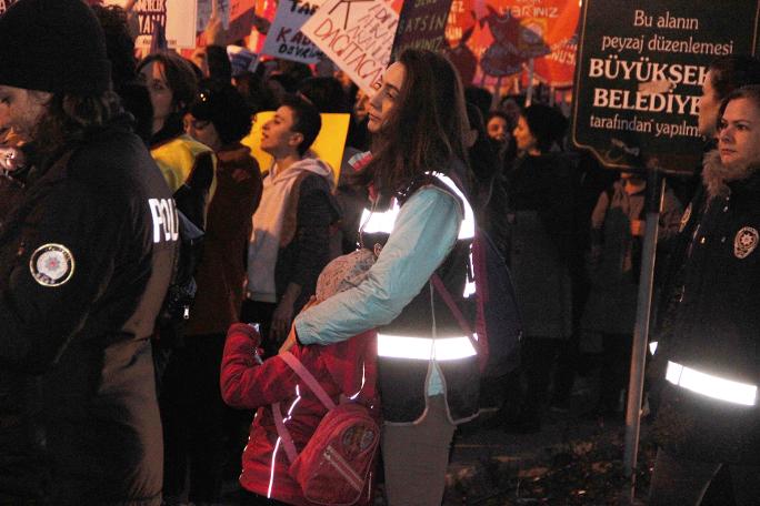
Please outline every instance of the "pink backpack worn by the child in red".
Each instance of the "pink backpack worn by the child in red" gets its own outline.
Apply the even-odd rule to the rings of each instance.
[[[380,427],[369,409],[351,402],[336,404],[296,356],[291,353],[279,356],[328,408],[299,454],[284,426],[280,403],[272,404],[277,433],[291,463],[290,476],[301,486],[303,497],[330,506],[349,506],[362,497],[371,497]]]

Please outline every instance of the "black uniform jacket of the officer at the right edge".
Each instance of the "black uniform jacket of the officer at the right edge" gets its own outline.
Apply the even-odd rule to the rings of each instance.
[[[760,172],[700,192],[682,221],[681,267],[654,355],[720,378],[760,385]],[[714,382],[711,382],[714,384]],[[746,406],[663,383],[658,443],[683,458],[760,464],[760,399]]]

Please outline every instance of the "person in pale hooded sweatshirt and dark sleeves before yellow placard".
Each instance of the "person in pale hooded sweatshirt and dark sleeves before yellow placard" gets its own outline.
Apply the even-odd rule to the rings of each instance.
[[[317,109],[298,97],[287,97],[262,128],[261,149],[274,160],[253,214],[242,320],[261,325],[267,353],[286,338],[330,261],[334,174],[309,151],[320,129]]]

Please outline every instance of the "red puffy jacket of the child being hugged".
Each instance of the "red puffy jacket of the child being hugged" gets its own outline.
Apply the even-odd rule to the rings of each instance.
[[[247,490],[282,503],[311,505],[293,480],[290,462],[280,445],[271,404],[280,402],[284,424],[301,452],[327,408],[279,357],[257,363],[260,337],[249,325],[234,324],[227,333],[221,365],[221,393],[230,406],[260,408],[242,456],[240,484]],[[319,381],[336,403],[341,394],[379,408],[376,399],[376,333],[364,332],[330,346],[293,346],[290,352]]]

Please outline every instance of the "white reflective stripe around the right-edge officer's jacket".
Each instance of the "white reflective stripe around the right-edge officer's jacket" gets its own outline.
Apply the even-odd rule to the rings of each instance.
[[[758,392],[756,385],[701,373],[670,361],[668,361],[666,380],[691,392],[744,406],[754,406]]]

